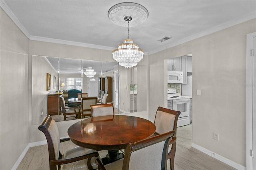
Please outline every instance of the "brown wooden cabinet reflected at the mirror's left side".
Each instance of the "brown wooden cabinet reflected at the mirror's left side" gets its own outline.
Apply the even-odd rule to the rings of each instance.
[[[47,99],[48,115],[58,115],[59,95],[56,93],[49,93]],[[61,114],[61,112],[60,112]]]

